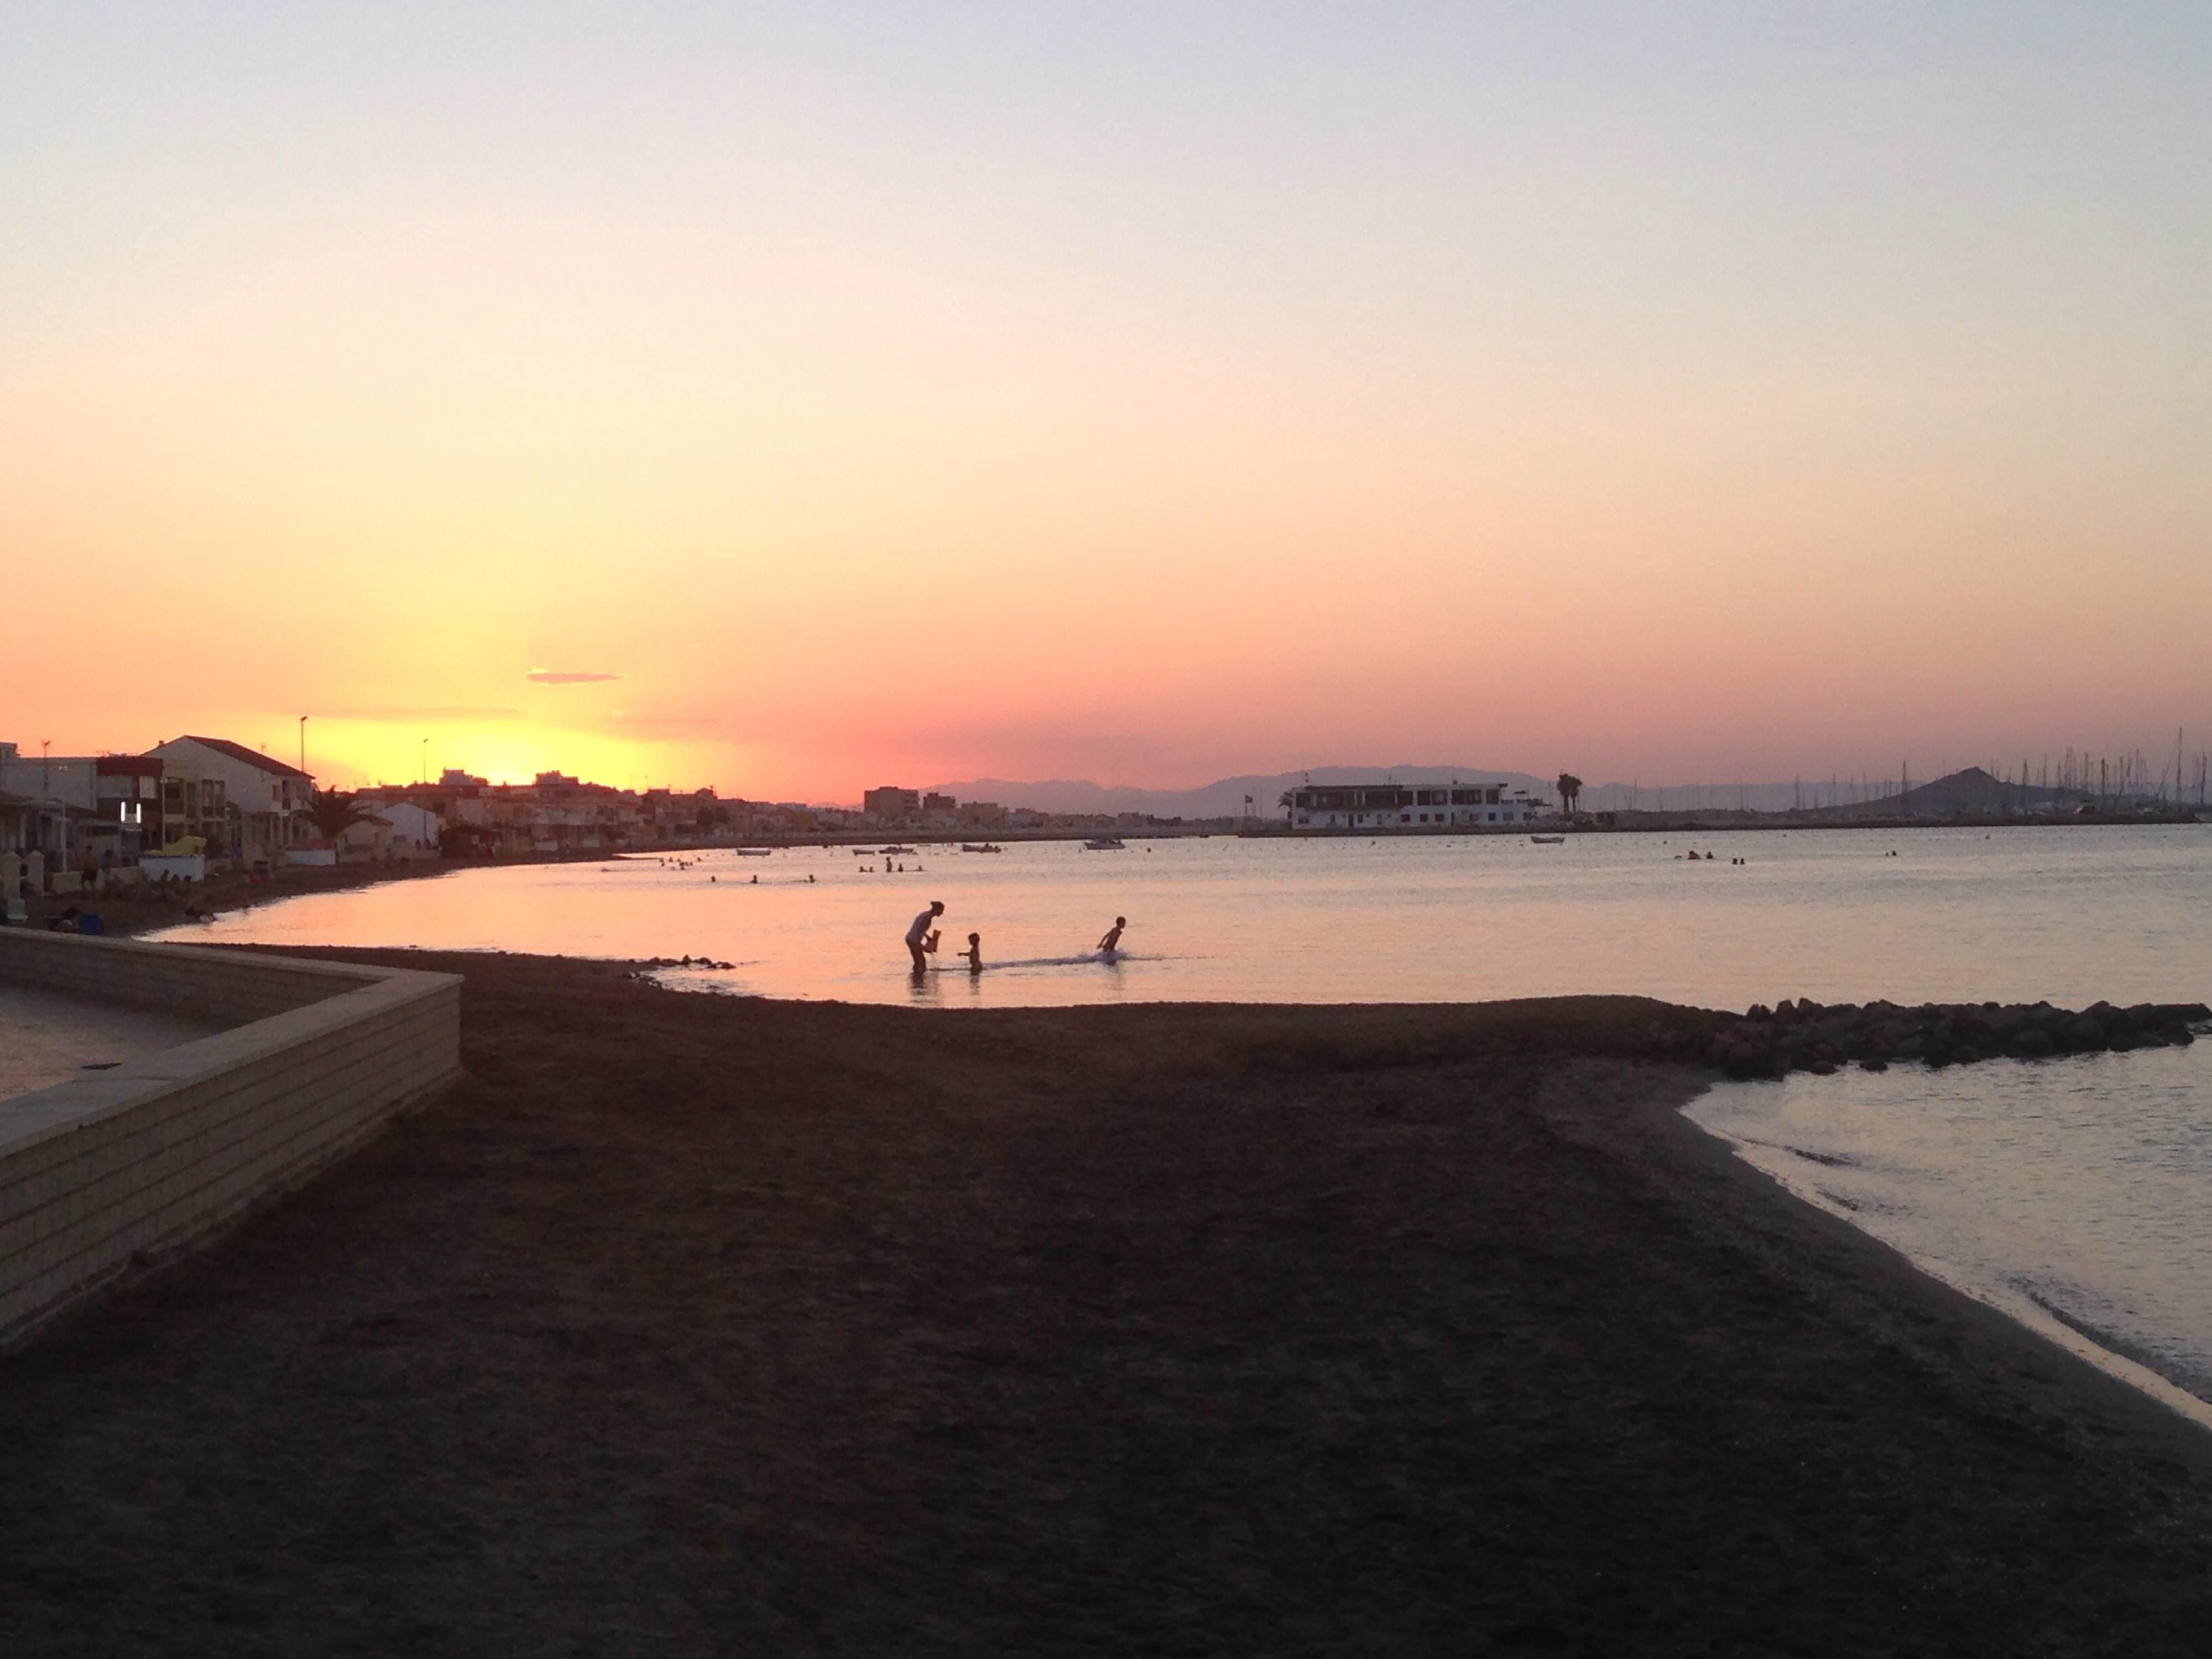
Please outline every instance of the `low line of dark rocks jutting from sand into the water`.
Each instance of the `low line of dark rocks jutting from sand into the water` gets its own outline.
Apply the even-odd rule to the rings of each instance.
[[[2048,1002],[1838,1002],[1809,998],[1754,1006],[1712,1033],[1705,1060],[1730,1077],[1832,1073],[1847,1062],[1885,1071],[1898,1060],[1958,1066],[1969,1060],[2048,1060],[2106,1048],[2159,1048],[2194,1042],[2212,1020],[2203,1002],[2139,1002],[2115,1009],[2055,1009]]]

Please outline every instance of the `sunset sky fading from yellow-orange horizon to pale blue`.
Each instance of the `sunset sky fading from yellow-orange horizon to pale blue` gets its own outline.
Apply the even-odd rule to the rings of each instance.
[[[2201,0],[0,7],[0,739],[2194,754],[2208,111]]]

